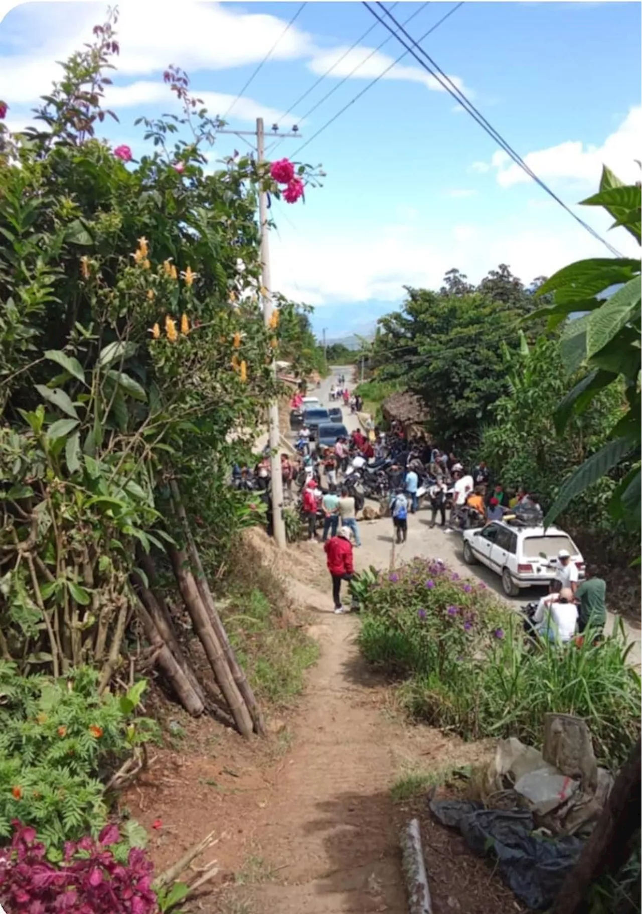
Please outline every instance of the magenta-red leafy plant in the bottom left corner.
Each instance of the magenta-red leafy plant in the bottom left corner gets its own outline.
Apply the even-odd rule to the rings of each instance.
[[[98,841],[65,844],[63,860],[49,863],[36,830],[17,821],[9,847],[0,850],[0,903],[11,914],[153,914],[153,864],[132,847],[121,864],[111,848],[121,840],[106,825]]]

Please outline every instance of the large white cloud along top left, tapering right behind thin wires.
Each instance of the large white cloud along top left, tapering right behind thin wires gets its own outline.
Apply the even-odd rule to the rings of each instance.
[[[258,63],[278,41],[272,60],[308,60],[310,69],[321,73],[344,52],[345,48],[322,50],[316,47],[310,34],[296,24],[283,34],[289,12],[281,19],[254,12],[254,9],[244,12],[234,5],[194,0],[184,0],[180,5],[169,3],[169,0],[153,4],[150,0],[137,0],[136,3],[125,0],[117,26],[121,47],[117,69],[121,75],[142,77],[174,63],[194,76],[203,70]],[[22,31],[33,31],[33,39],[26,52],[0,58],[0,98],[12,105],[36,101],[53,80],[59,79],[56,61],[68,58],[74,50],[81,48],[89,40],[91,27],[103,15],[100,6],[94,4],[74,4],[73,13],[66,6],[60,15],[58,4],[25,5],[19,21]],[[23,47],[22,42],[13,43],[16,48]],[[354,48],[332,76],[347,75],[355,63],[369,53],[370,48]],[[372,79],[392,62],[393,58],[376,52],[354,76]],[[428,89],[443,91],[418,67],[397,65],[385,79],[421,82]],[[462,87],[458,77],[451,79]],[[134,85],[142,91],[140,84]],[[149,99],[142,95],[142,101]]]

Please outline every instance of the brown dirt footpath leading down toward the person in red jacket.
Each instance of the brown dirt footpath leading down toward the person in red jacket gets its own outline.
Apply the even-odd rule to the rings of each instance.
[[[390,784],[392,744],[354,643],[356,621],[328,612],[319,591],[294,595],[327,622],[278,791],[255,824],[278,882],[260,887],[270,914],[405,912]],[[316,604],[316,605],[315,605]],[[254,907],[254,906],[253,906]]]

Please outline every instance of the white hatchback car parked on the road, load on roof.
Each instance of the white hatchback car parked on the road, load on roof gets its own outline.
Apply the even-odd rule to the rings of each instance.
[[[583,579],[584,558],[559,527],[517,526],[499,520],[481,529],[464,530],[464,561],[468,565],[481,562],[497,572],[509,597],[516,597],[525,587],[548,587],[555,578],[561,549],[571,553],[578,577]]]

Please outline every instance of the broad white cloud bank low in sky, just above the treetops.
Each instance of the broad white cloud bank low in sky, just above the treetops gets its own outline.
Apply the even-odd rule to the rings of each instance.
[[[605,256],[602,245],[563,213],[546,213],[537,226],[532,219],[451,226],[442,220],[438,228],[404,222],[332,231],[311,222],[304,230],[302,225],[290,230],[278,211],[275,218],[274,288],[316,307],[369,300],[392,307],[404,297],[405,285],[439,288],[451,267],[479,282],[508,263],[523,282],[531,282],[574,260]],[[594,222],[605,228],[598,214]],[[637,256],[637,245],[626,233],[618,233],[614,243],[626,256]]]

